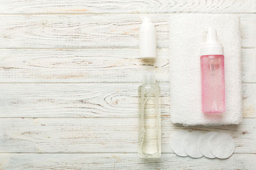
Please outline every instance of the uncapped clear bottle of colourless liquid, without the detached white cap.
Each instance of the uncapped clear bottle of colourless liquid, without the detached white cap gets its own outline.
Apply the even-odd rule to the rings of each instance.
[[[159,87],[153,72],[145,74],[139,87],[139,156],[161,157],[161,115],[159,113]]]

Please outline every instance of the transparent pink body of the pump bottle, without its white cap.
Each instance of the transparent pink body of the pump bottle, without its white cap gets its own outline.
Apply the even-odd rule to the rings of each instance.
[[[201,56],[202,111],[225,112],[225,75],[223,55]]]

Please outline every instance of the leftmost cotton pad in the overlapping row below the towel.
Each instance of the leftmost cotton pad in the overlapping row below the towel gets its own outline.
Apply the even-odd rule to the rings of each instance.
[[[184,150],[184,139],[186,136],[189,134],[188,131],[180,130],[180,131],[175,131],[172,134],[171,138],[171,148],[174,153],[179,155],[180,157],[186,157],[188,154]]]

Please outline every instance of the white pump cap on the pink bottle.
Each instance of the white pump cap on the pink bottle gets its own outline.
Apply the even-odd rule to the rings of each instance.
[[[223,46],[217,40],[217,32],[209,27],[204,45],[200,48],[200,55],[223,55]]]

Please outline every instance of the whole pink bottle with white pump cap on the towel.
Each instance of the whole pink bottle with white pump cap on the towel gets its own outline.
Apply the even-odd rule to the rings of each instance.
[[[205,43],[200,48],[202,111],[225,112],[225,73],[223,46],[218,43],[217,32],[209,28]]]

